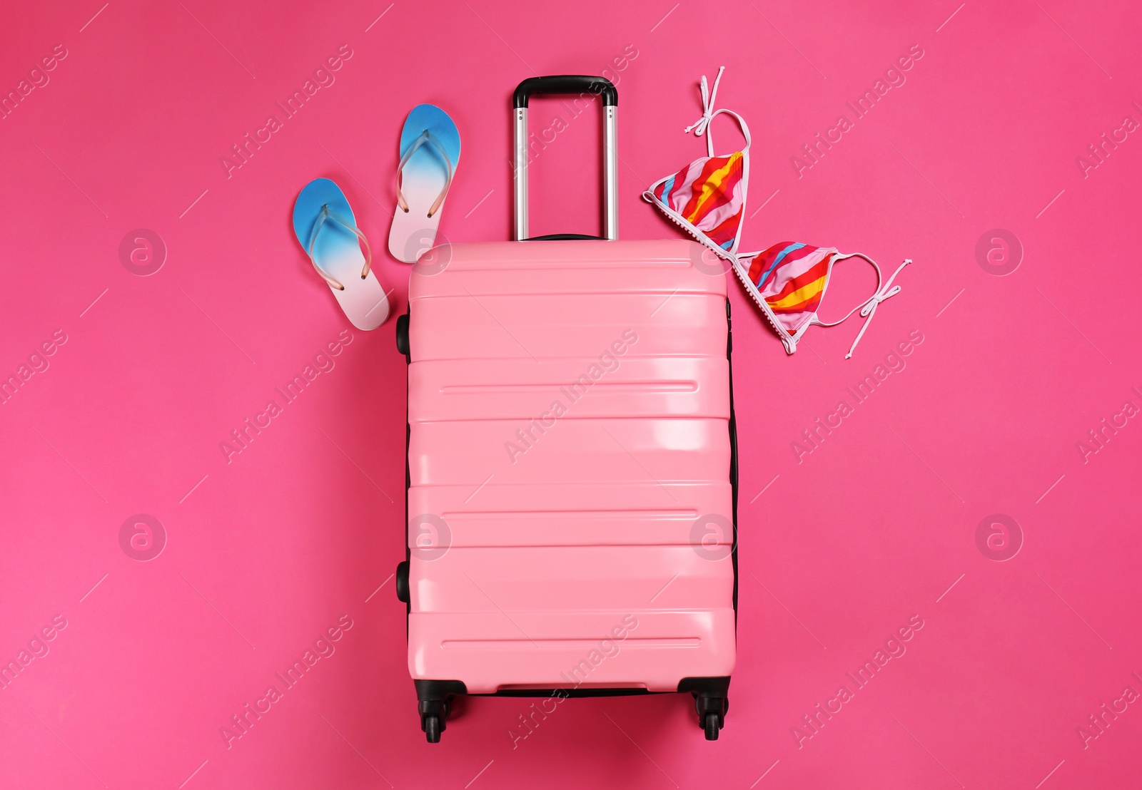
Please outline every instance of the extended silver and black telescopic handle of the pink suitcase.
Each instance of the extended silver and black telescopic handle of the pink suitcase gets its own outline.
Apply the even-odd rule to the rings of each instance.
[[[602,76],[563,74],[532,76],[512,96],[515,115],[515,237],[528,239],[528,99],[540,94],[594,94],[603,97],[603,210],[606,239],[619,237],[619,171],[616,153],[614,111],[619,92]],[[582,236],[571,236],[582,237]],[[588,239],[590,236],[587,236]]]

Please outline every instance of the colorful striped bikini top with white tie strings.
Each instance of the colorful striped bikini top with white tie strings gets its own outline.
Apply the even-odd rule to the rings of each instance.
[[[906,258],[885,281],[875,260],[861,252],[841,253],[835,247],[810,247],[785,241],[761,252],[738,251],[749,186],[750,137],[749,127],[741,115],[731,110],[713,108],[723,71],[725,66],[718,68],[713,90],[709,90],[706,78],[702,76],[702,116],[685,129],[687,134],[693,131],[695,136],[706,136],[707,155],[656,182],[643,193],[643,198],[718,257],[730,261],[742,285],[781,338],[788,354],[797,350],[797,342],[811,325],[835,327],[860,311],[864,324],[845,355],[847,360],[864,336],[877,305],[900,292],[900,285],[893,285],[892,281],[900,269],[912,261]],[[738,122],[746,145],[719,156],[714,153],[714,138],[709,127],[722,114]],[[876,269],[876,291],[838,321],[823,322],[818,317],[818,312],[833,266],[839,260],[854,257],[863,258]]]

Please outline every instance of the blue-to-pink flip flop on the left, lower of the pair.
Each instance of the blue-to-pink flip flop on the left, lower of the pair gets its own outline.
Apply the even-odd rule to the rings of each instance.
[[[385,323],[388,297],[370,271],[369,241],[339,186],[328,178],[305,185],[293,203],[293,233],[354,327],[369,330]]]

